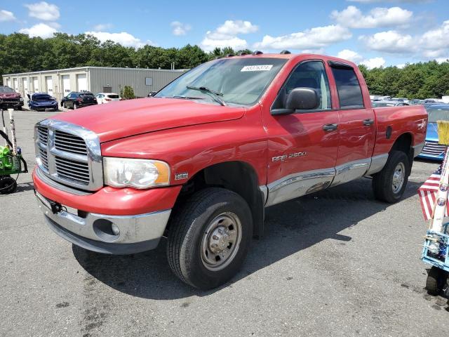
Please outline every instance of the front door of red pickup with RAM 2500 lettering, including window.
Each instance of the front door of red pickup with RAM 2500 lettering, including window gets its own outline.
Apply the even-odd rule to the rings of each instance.
[[[273,103],[285,107],[293,88],[312,88],[319,96],[315,110],[272,115],[264,121],[268,136],[267,206],[322,190],[332,183],[339,145],[338,112],[333,110],[326,66],[321,60],[300,62]]]

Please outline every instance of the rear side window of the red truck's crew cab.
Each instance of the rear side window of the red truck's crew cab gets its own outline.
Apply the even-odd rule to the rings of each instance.
[[[330,67],[337,86],[340,109],[363,108],[363,95],[354,68],[337,62],[331,62]]]

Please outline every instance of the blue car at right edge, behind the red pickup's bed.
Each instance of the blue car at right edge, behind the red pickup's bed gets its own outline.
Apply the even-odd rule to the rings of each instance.
[[[429,114],[426,140],[424,142],[424,148],[418,157],[431,160],[443,160],[446,146],[438,144],[438,128],[436,126],[436,121],[449,121],[449,105],[428,105],[426,110]]]

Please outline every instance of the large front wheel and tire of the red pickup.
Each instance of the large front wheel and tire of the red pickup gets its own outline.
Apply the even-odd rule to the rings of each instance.
[[[251,211],[239,194],[217,187],[201,190],[174,214],[168,263],[183,282],[215,288],[239,271],[252,234]]]

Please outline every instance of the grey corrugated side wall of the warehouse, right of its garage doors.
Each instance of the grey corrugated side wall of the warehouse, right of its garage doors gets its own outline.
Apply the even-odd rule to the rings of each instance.
[[[102,93],[105,88],[111,88],[113,93],[120,93],[121,88],[130,86],[137,97],[146,97],[150,91],[158,91],[184,72],[182,70],[89,68],[89,73],[91,74],[90,83],[93,93]],[[151,80],[146,81],[146,79]],[[151,85],[146,83],[151,83]]]

